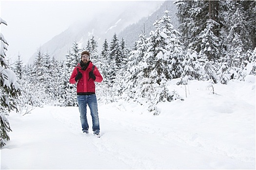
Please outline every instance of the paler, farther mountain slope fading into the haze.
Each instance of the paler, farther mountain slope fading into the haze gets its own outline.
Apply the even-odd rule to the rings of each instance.
[[[43,44],[39,50],[42,53],[48,51],[50,56],[60,60],[64,58],[75,40],[79,42],[81,47],[85,47],[92,35],[98,41],[99,49],[101,49],[101,44],[105,39],[110,41],[115,33],[118,34],[125,27],[138,22],[140,18],[149,16],[163,2],[129,1],[128,5],[125,6],[125,2],[116,1],[116,10],[110,9],[107,13],[97,11],[91,20],[75,22],[67,30]],[[30,58],[30,64],[33,63],[37,53],[38,51]]]

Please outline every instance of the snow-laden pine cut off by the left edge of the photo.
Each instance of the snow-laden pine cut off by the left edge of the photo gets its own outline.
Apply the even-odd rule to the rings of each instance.
[[[7,22],[0,17],[0,25]],[[20,95],[20,86],[17,83],[15,73],[8,69],[5,61],[8,43],[3,34],[0,33],[0,147],[6,143],[5,140],[10,140],[8,132],[11,131],[10,124],[6,115],[11,110],[17,109],[17,98]]]

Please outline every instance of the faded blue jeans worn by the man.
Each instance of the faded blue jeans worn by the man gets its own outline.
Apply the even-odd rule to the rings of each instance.
[[[98,103],[96,94],[92,95],[78,95],[77,96],[79,112],[80,112],[80,120],[82,124],[82,131],[88,131],[89,125],[87,122],[87,104],[91,111],[91,116],[93,120],[93,132],[94,134],[99,133],[99,120],[98,120]]]

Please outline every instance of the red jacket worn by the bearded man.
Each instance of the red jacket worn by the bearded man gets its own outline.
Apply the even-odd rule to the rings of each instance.
[[[73,72],[71,74],[71,77],[69,79],[69,82],[71,84],[77,83],[75,78],[76,78],[76,76],[78,74],[78,70],[79,70],[79,72],[82,73],[82,78],[78,80],[77,93],[86,93],[86,92],[95,93],[95,83],[94,83],[94,80],[89,77],[89,72],[92,70],[92,68],[93,68],[93,63],[92,62],[89,63],[89,66],[85,70],[81,69],[80,63],[78,64],[77,67],[74,68],[74,70],[73,70]],[[100,73],[98,71],[98,68],[96,66],[95,66],[95,68],[93,70],[93,73],[94,73],[94,75],[96,77],[95,81],[100,83],[103,80],[103,78],[100,75]]]

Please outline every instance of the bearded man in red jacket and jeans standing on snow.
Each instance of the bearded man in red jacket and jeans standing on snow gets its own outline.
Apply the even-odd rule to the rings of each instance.
[[[99,120],[98,120],[98,103],[95,94],[95,83],[101,82],[102,76],[98,68],[90,61],[90,53],[83,51],[81,53],[81,61],[77,67],[74,68],[69,82],[77,84],[77,101],[79,105],[80,120],[83,133],[89,135],[89,125],[87,122],[87,104],[91,111],[93,120],[93,133],[95,136],[99,135]]]

